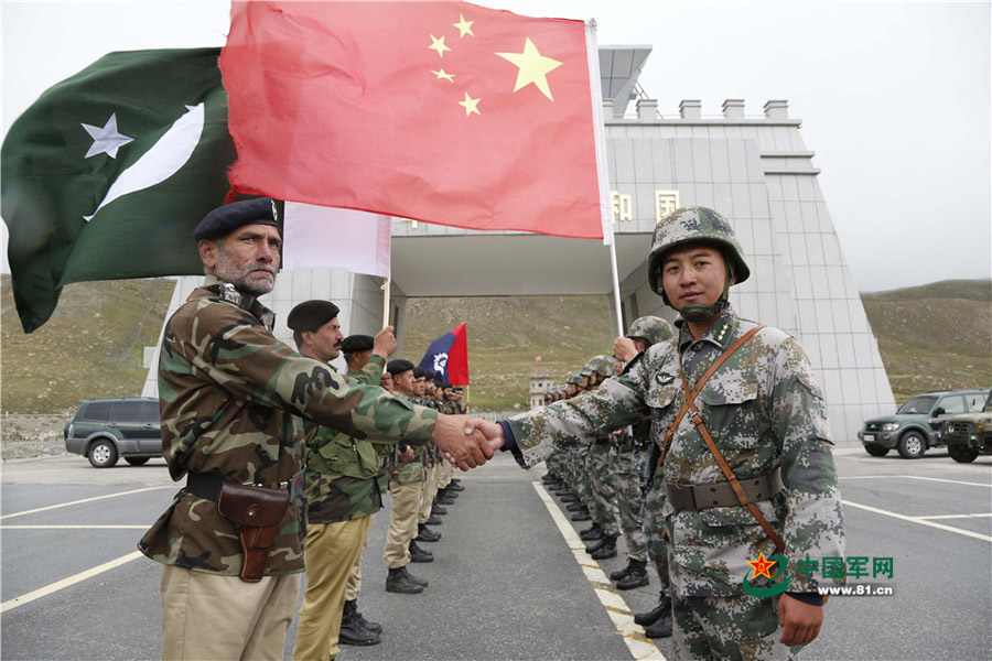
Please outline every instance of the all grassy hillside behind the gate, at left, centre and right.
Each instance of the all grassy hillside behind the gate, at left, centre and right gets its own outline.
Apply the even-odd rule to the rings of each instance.
[[[62,413],[85,398],[139,394],[142,349],[158,339],[172,286],[168,280],[72,284],[52,319],[24,335],[10,278],[2,277],[2,410]],[[897,400],[992,386],[992,281],[936,282],[863,300]],[[564,380],[612,347],[605,296],[412,299],[401,328],[406,357],[418,362],[432,339],[462,322],[478,410],[526,405],[536,356]]]

